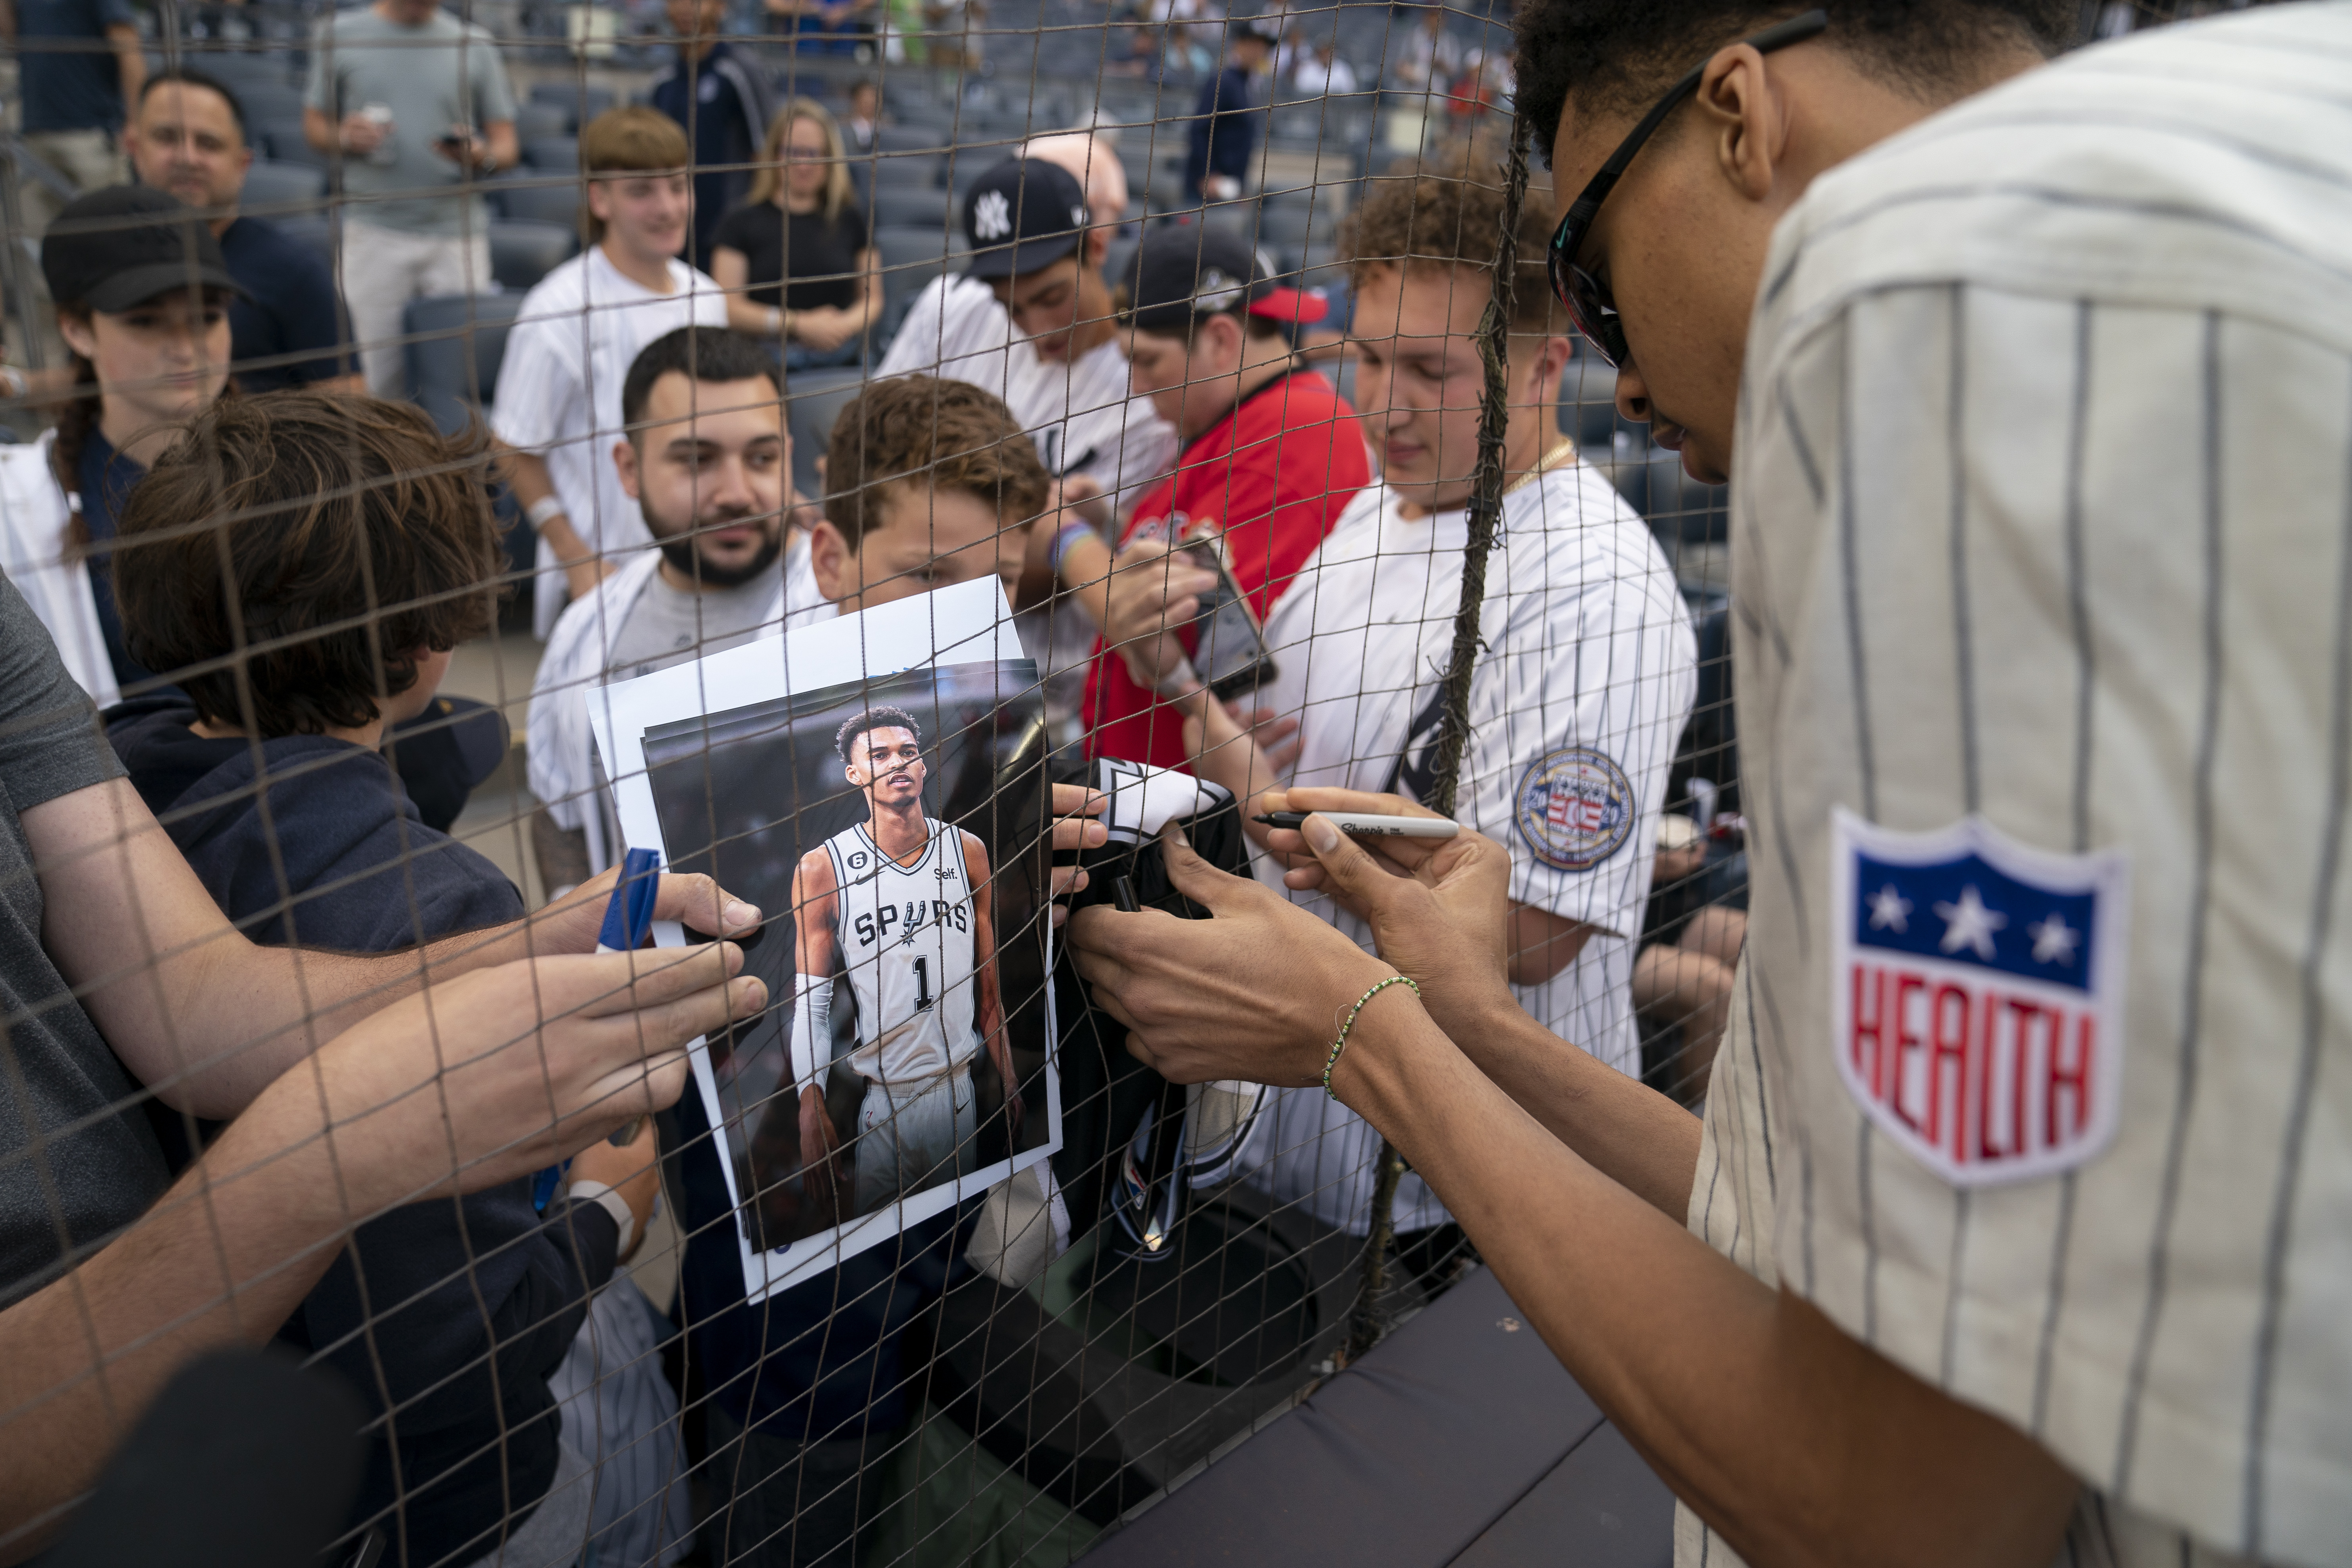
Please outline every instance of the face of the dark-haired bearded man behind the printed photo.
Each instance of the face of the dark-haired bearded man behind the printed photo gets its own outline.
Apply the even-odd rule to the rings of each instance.
[[[706,588],[736,588],[783,552],[790,449],[767,376],[663,376],[644,400],[644,430],[621,442],[621,489],[668,564]]]

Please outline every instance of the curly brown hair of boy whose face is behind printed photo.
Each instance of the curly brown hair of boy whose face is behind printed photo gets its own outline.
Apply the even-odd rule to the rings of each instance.
[[[826,451],[826,522],[854,550],[882,522],[891,484],[978,496],[1004,527],[1044,510],[1051,480],[1037,442],[995,393],[969,381],[891,376],[849,400]]]

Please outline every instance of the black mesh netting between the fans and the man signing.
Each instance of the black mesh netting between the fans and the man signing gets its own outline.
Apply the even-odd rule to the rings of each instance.
[[[1134,1528],[1477,1265],[1058,952],[1073,867],[1202,912],[1169,820],[1279,886],[1268,788],[1444,776],[1519,1001],[1705,1095],[1726,503],[1545,315],[1541,169],[1479,357],[1508,21],[19,5],[7,1552],[230,1340],[355,1413],[332,1561]]]

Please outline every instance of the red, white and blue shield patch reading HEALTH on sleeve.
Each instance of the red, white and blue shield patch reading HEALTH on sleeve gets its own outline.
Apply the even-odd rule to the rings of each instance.
[[[1830,1018],[1863,1112],[1957,1187],[2070,1171],[2114,1138],[2131,865],[1980,816],[1830,816]]]

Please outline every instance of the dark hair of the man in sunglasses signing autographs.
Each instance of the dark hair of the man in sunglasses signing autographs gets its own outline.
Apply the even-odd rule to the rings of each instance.
[[[1515,66],[1536,153],[1552,165],[1571,96],[1644,108],[1715,49],[1816,7],[1830,14],[1823,42],[1926,101],[1976,80],[1990,49],[2056,54],[2082,31],[2077,0],[1534,0],[1515,26]]]

